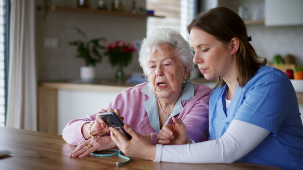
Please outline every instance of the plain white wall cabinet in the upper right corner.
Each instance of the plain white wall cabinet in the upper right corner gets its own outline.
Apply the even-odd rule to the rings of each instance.
[[[303,0],[265,0],[265,25],[303,25]]]

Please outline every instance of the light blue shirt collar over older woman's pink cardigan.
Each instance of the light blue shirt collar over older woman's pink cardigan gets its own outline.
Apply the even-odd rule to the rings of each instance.
[[[144,102],[144,108],[146,110],[146,113],[149,118],[149,122],[151,126],[153,126],[156,133],[160,132],[160,122],[159,122],[159,113],[158,113],[158,103],[157,103],[157,97],[154,94],[154,92],[150,88],[150,82],[147,83],[143,89],[141,90],[142,93],[150,97],[147,101]],[[168,123],[168,121],[179,114],[182,109],[182,103],[183,100],[190,100],[194,96],[194,84],[190,82],[189,80],[185,80],[182,87],[182,93],[180,98],[178,99],[172,114],[169,116],[165,124]]]

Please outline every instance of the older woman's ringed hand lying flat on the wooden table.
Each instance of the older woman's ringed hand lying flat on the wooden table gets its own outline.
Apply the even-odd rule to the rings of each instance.
[[[87,148],[87,145],[91,145],[91,148]],[[107,150],[115,147],[115,143],[111,139],[111,136],[103,137],[91,137],[90,139],[81,142],[77,148],[69,154],[70,157],[85,157],[96,150]]]

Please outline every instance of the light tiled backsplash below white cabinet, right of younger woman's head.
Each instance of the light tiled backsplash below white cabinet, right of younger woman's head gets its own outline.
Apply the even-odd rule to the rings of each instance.
[[[297,65],[303,65],[303,26],[265,27],[263,25],[247,26],[250,42],[261,57],[268,63],[276,54],[295,57]]]

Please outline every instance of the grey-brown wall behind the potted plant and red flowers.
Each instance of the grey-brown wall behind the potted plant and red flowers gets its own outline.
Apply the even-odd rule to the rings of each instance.
[[[91,8],[96,9],[97,1],[90,0]],[[53,5],[76,7],[75,0],[54,0]],[[36,0],[36,6],[43,6],[42,1]],[[145,1],[138,1],[138,7],[145,7]],[[130,11],[130,0],[124,1],[125,11]],[[36,12],[36,57],[38,66],[38,80],[66,80],[79,79],[80,67],[84,60],[76,58],[76,47],[70,46],[69,41],[84,40],[75,30],[80,28],[88,39],[104,37],[107,43],[122,41],[141,41],[146,37],[146,19],[131,17],[102,16],[66,12],[49,12],[46,19],[44,11]],[[58,48],[44,47],[45,38],[57,38]],[[107,60],[96,65],[96,78],[114,78],[115,68]],[[141,71],[134,54],[132,63],[125,69],[125,73]]]

